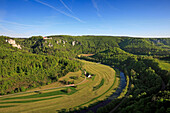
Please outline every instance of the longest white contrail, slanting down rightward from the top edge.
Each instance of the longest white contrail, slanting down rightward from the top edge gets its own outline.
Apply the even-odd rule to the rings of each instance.
[[[78,17],[73,16],[73,15],[71,15],[71,14],[68,14],[68,13],[66,13],[66,12],[64,12],[64,11],[61,11],[61,10],[59,10],[59,9],[57,9],[57,8],[55,8],[55,7],[53,7],[52,5],[49,5],[49,4],[47,4],[47,3],[45,3],[45,2],[42,2],[42,1],[40,1],[40,0],[35,0],[35,1],[38,2],[38,3],[40,3],[40,4],[42,4],[42,5],[45,5],[45,6],[47,6],[47,7],[50,7],[50,8],[56,10],[57,12],[59,12],[59,13],[65,15],[65,16],[71,17],[71,18],[73,18],[73,19],[75,19],[75,20],[77,20],[77,21],[79,21],[79,22],[84,23],[84,21],[82,21],[82,20],[79,19]]]

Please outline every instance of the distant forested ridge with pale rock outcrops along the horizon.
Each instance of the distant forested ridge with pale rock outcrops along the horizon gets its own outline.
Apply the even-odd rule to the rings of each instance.
[[[24,49],[37,54],[52,54],[61,57],[75,57],[81,53],[98,53],[118,47],[126,52],[137,55],[169,55],[169,39],[142,39],[113,36],[33,36],[28,39],[18,39]],[[73,45],[73,42],[75,43]]]

